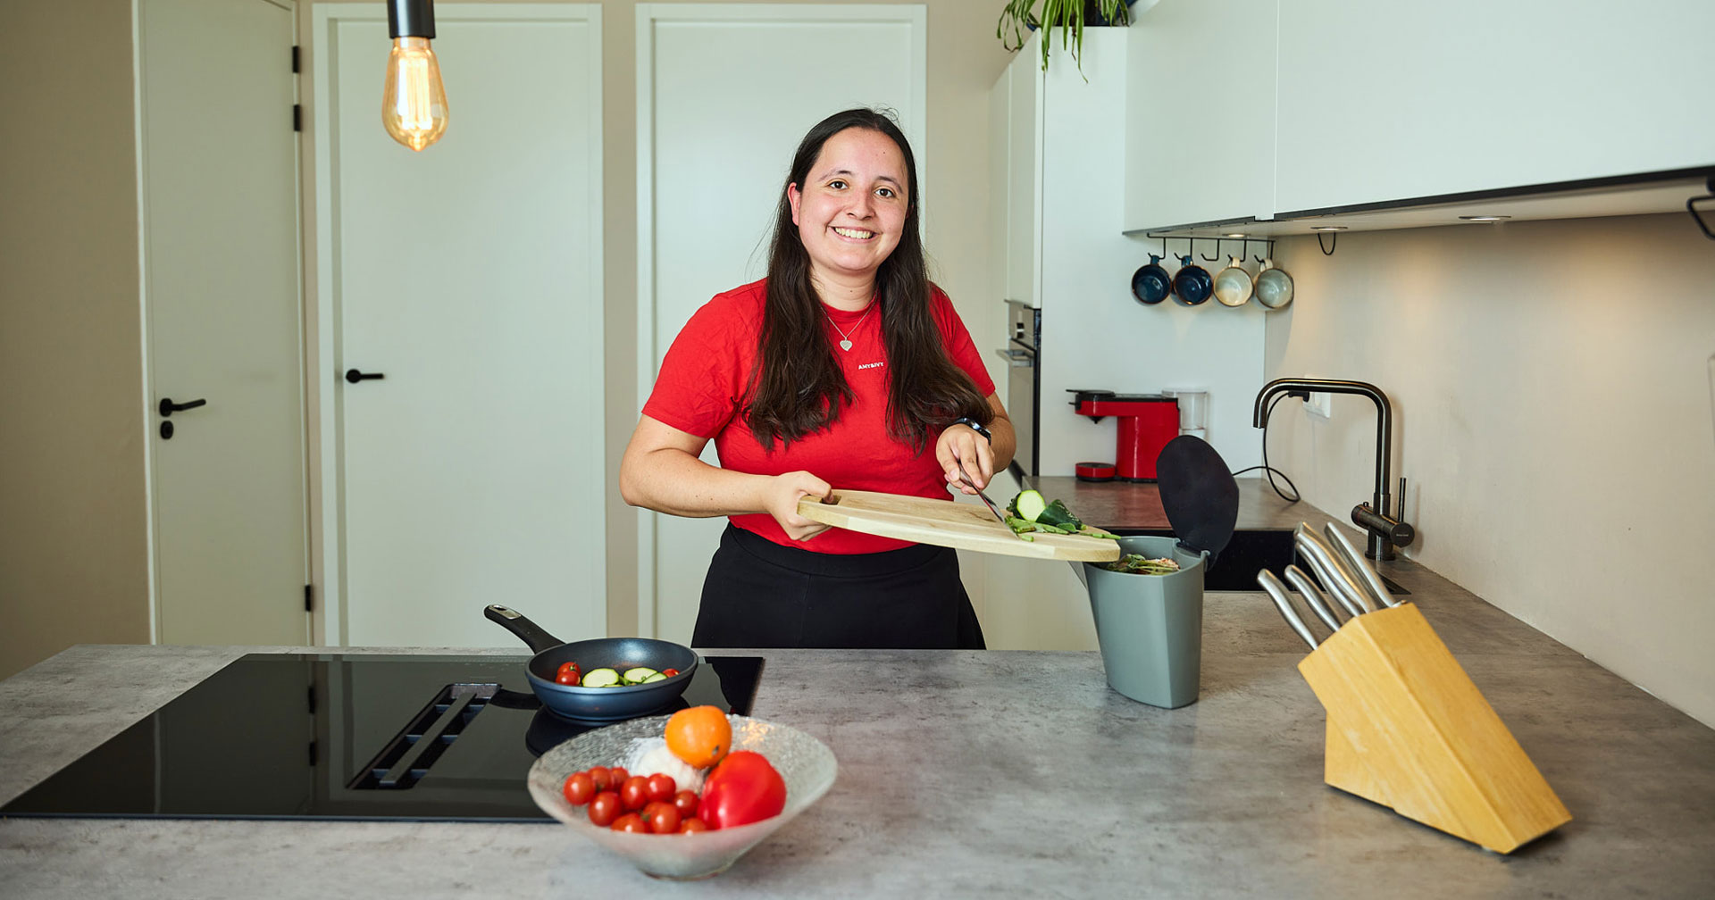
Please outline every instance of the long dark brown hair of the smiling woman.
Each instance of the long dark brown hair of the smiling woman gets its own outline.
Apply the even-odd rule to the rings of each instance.
[[[756,372],[751,375],[749,420],[763,447],[797,441],[839,420],[840,405],[854,399],[833,358],[833,341],[821,327],[821,300],[809,281],[809,252],[792,223],[787,187],[804,187],[821,146],[845,129],[882,132],[906,158],[906,225],[899,245],[875,273],[887,346],[887,430],[921,453],[931,429],[957,418],[988,423],[995,413],[976,382],[947,355],[930,315],[930,273],[918,233],[918,163],[894,118],[878,110],[845,110],[823,118],[797,144],[780,187],[768,255],[767,307]]]

